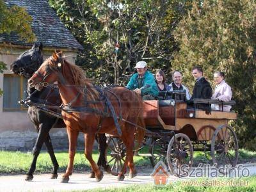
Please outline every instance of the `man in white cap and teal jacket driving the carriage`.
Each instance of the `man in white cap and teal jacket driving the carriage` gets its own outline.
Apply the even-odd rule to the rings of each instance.
[[[158,89],[154,75],[147,71],[147,63],[139,61],[136,63],[137,73],[131,76],[126,88],[141,95],[143,100],[154,100],[157,98]]]

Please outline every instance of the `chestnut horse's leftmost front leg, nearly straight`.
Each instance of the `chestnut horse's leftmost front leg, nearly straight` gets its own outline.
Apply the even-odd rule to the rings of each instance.
[[[68,182],[69,176],[72,175],[73,166],[74,166],[74,157],[76,154],[77,137],[79,132],[73,131],[71,130],[70,127],[67,127],[67,133],[68,133],[68,141],[69,141],[69,149],[68,149],[69,161],[68,161],[68,167],[67,167],[66,173],[62,176],[61,182]]]

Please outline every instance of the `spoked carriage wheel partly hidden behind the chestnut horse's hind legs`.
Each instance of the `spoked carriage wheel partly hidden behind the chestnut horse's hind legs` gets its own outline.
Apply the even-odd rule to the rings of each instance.
[[[110,160],[108,161],[108,164],[112,164],[111,166],[111,174],[118,175],[118,173],[121,172],[123,164],[124,164],[124,157],[125,157],[125,145],[122,140],[115,137],[109,137],[107,139],[108,143],[108,149],[110,150],[110,153],[108,156],[110,156]]]

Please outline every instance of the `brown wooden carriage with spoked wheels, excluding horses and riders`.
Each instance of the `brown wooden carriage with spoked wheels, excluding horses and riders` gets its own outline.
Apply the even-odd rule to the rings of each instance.
[[[162,92],[163,93],[163,92]],[[154,167],[158,161],[168,164],[168,168],[176,176],[182,176],[180,166],[192,166],[193,152],[202,151],[205,157],[218,166],[230,164],[236,166],[238,159],[238,143],[236,133],[228,125],[229,120],[236,120],[237,113],[188,109],[186,102],[175,100],[175,95],[182,92],[166,92],[173,95],[168,100],[143,101],[143,118],[147,127],[145,140],[139,148],[138,156],[148,157]],[[165,93],[165,94],[166,94]],[[196,104],[231,105],[236,102],[220,102],[218,100],[195,99]],[[118,138],[108,137],[110,161],[114,161],[112,169],[117,172],[122,166],[125,147]],[[114,146],[113,146],[114,145]],[[148,153],[141,153],[143,147]],[[209,154],[208,154],[209,153]],[[184,176],[184,175],[183,175]]]

